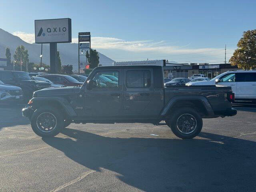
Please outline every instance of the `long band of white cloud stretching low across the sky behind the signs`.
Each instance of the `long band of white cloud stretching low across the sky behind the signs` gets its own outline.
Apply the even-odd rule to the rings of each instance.
[[[28,43],[34,43],[34,34],[24,32],[14,32],[13,35],[20,37]],[[224,49],[216,48],[188,48],[189,44],[184,46],[174,46],[167,41],[138,40],[128,41],[112,37],[92,37],[92,48],[100,49],[101,52],[109,52],[112,59],[115,60],[143,60],[163,59],[177,60],[177,62],[223,62]],[[72,38],[72,43],[78,43],[78,38]],[[234,50],[229,50],[227,60]],[[120,54],[123,53],[122,58]],[[127,57],[128,56],[128,57]]]

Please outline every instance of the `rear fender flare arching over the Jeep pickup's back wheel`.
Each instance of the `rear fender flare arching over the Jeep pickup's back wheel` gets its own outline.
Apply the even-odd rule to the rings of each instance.
[[[164,116],[166,116],[168,114],[168,112],[174,106],[174,104],[176,102],[178,102],[178,101],[192,101],[192,100],[198,100],[203,104],[203,106],[204,106],[204,108],[207,112],[207,116],[214,116],[212,106],[210,105],[210,103],[208,102],[208,100],[205,96],[202,96],[202,95],[183,95],[183,96],[174,96],[168,101],[168,103],[166,104],[166,106],[164,107],[164,109],[162,110],[162,112],[160,114],[161,118],[163,118]]]

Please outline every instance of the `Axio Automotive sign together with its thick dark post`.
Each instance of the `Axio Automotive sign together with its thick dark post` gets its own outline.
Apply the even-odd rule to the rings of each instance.
[[[57,73],[57,43],[71,42],[71,19],[35,20],[35,39],[36,43],[50,43],[50,72]]]

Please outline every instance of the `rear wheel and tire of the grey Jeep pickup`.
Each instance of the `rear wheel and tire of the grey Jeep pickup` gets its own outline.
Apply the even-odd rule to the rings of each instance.
[[[191,139],[202,130],[202,117],[192,108],[177,109],[170,118],[168,126],[179,138]]]

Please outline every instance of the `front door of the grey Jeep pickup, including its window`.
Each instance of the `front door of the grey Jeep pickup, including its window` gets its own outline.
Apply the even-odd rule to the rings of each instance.
[[[118,78],[112,81],[104,75]],[[111,116],[121,114],[122,111],[122,69],[95,70],[90,76],[94,88],[84,93],[84,113],[86,116]]]

